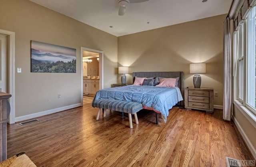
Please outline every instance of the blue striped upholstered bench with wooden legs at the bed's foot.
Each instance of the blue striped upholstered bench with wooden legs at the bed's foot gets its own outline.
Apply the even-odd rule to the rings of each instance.
[[[136,124],[139,124],[136,112],[143,109],[143,106],[139,102],[122,101],[115,99],[99,99],[92,102],[93,107],[99,108],[96,120],[100,117],[100,110],[105,109],[103,117],[106,116],[106,109],[128,113],[130,128],[132,126],[132,114],[134,114]]]

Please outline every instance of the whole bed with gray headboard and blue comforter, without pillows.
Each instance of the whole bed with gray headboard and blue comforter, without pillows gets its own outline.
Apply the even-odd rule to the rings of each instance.
[[[116,99],[123,101],[141,102],[143,108],[154,110],[161,113],[162,119],[166,122],[169,110],[175,106],[183,106],[184,94],[184,77],[183,72],[134,72],[133,83],[135,77],[140,78],[177,78],[179,77],[176,87],[162,86],[138,86],[128,85],[114,88],[105,88],[98,90],[94,100],[99,99]],[[93,100],[93,102],[94,102]],[[92,104],[93,104],[92,102]],[[93,106],[94,107],[94,106]],[[158,114],[156,114],[158,115]],[[158,124],[158,117],[156,120]]]

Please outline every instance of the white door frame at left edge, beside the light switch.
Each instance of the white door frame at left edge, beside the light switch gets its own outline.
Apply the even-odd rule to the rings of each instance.
[[[14,124],[15,123],[15,32],[0,29],[0,34],[7,36],[7,45],[8,45],[8,49],[7,49],[8,92],[7,93],[12,94],[12,97],[10,98],[11,112],[10,112],[9,124]]]

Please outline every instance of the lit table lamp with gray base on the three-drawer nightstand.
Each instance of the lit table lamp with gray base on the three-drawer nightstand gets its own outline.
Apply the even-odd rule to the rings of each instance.
[[[206,73],[205,63],[192,63],[189,65],[190,73],[195,73],[193,77],[193,84],[195,88],[200,88],[201,86],[201,76],[198,73]]]

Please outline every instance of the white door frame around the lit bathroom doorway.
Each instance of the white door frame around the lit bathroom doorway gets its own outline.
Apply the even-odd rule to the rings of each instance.
[[[99,51],[96,49],[90,49],[87,47],[81,47],[81,106],[83,106],[83,51],[90,51],[90,52],[95,52],[99,53],[100,61],[99,61],[99,77],[100,77],[100,82],[99,86],[100,89],[104,88],[104,74],[103,74],[103,62],[104,62],[104,51]]]

